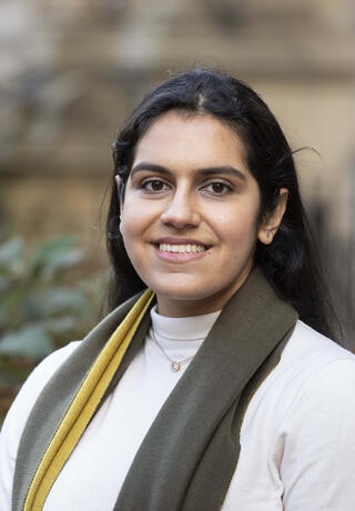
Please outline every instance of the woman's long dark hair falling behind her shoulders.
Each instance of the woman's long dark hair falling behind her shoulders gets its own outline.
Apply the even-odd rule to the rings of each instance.
[[[335,314],[302,203],[293,152],[273,113],[248,86],[205,68],[175,74],[158,86],[133,110],[113,142],[114,176],[121,177],[122,184],[118,190],[113,176],[106,223],[113,269],[109,309],[145,287],[119,231],[120,201],[138,141],[160,116],[173,109],[212,114],[239,134],[260,188],[260,219],[273,211],[280,189],[288,190],[287,208],[274,240],[267,246],[257,242],[255,259],[278,294],[294,304],[301,320],[334,337]]]

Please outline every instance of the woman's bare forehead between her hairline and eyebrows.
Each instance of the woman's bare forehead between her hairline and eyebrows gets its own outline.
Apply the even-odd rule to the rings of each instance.
[[[192,168],[205,164],[246,167],[246,151],[237,133],[211,114],[172,110],[144,133],[135,148],[134,163],[152,161],[174,164],[183,160]]]

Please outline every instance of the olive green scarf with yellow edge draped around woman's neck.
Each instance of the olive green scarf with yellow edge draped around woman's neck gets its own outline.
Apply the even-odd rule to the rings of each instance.
[[[88,423],[141,348],[151,304],[148,290],[113,311],[45,385],[20,442],[13,511],[42,509]],[[277,364],[296,320],[293,307],[254,269],[158,413],[118,489],[114,511],[221,508],[247,403]]]

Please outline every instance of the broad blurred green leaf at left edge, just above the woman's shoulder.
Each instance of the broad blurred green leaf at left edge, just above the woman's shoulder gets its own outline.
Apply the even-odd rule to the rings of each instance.
[[[43,359],[55,349],[49,334],[41,325],[30,325],[0,338],[0,354]]]

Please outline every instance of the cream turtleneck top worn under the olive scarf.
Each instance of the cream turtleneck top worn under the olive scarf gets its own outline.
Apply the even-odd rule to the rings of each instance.
[[[53,484],[44,511],[110,511],[150,425],[219,312],[164,318],[148,334]],[[262,335],[262,332],[261,332]],[[10,511],[19,440],[43,385],[77,348],[48,357],[17,397],[0,435],[0,510]],[[216,389],[215,399],[223,389]],[[253,395],[222,511],[352,511],[355,501],[355,357],[301,321]],[[164,455],[164,452],[162,452]],[[176,460],[183,463],[183,460]],[[200,510],[196,510],[200,511]],[[203,509],[201,509],[203,511]]]

